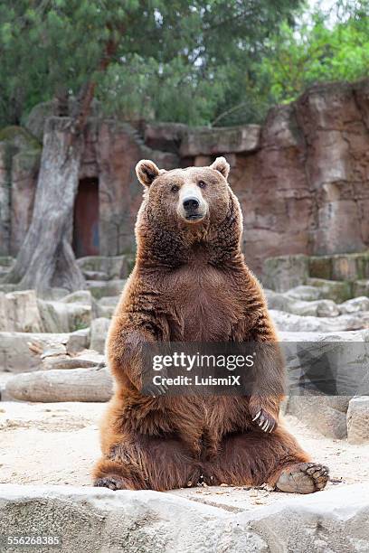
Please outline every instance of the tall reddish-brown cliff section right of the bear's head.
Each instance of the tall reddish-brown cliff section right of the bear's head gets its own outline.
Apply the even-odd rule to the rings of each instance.
[[[270,111],[260,144],[232,175],[251,267],[280,254],[369,245],[369,81],[310,89]]]

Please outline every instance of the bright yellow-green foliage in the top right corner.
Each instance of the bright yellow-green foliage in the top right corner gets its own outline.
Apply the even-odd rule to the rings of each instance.
[[[333,28],[326,14],[317,10],[312,23],[295,30],[284,23],[282,40],[270,41],[270,54],[260,64],[260,73],[269,80],[275,102],[289,102],[320,81],[369,76],[368,3],[339,3],[336,9],[342,19]]]

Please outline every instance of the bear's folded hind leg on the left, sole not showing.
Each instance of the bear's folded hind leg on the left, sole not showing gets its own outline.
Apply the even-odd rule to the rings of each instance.
[[[137,436],[116,445],[93,471],[94,485],[164,492],[200,481],[201,466],[175,437]]]

